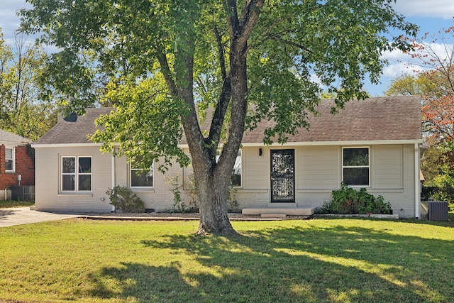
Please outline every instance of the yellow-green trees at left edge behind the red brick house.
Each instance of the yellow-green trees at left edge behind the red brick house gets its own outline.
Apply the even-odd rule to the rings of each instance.
[[[55,123],[54,106],[40,99],[46,54],[23,36],[14,46],[6,45],[0,29],[0,128],[37,140]]]

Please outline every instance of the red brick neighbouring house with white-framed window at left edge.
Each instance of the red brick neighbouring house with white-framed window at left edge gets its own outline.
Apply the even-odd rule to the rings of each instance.
[[[0,129],[0,199],[11,199],[7,187],[35,185],[31,141]]]

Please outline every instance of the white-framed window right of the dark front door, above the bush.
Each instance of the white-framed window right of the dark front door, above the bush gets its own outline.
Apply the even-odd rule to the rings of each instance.
[[[369,186],[369,148],[343,148],[342,151],[343,182],[353,186]]]

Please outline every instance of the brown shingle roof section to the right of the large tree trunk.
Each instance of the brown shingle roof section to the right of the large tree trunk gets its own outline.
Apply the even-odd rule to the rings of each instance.
[[[309,116],[310,128],[300,129],[288,142],[421,140],[421,98],[376,97],[349,101],[345,109],[331,114],[332,100],[316,107],[320,115]],[[262,121],[243,136],[243,143],[262,142],[272,121]]]

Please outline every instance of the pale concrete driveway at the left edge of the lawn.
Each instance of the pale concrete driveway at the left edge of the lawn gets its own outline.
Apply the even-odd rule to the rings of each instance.
[[[30,207],[0,209],[0,227],[77,218],[78,214],[52,214],[33,211]]]

